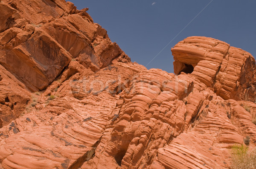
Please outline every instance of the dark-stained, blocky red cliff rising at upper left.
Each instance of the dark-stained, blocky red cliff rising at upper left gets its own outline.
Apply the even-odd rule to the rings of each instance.
[[[128,59],[86,9],[72,3],[3,0],[0,7],[0,63],[31,91],[45,89],[71,59],[93,71]]]

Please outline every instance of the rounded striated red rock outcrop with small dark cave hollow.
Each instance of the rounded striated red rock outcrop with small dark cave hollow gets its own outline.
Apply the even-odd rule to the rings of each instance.
[[[176,74],[191,73],[223,99],[255,101],[256,68],[250,53],[220,40],[188,37],[172,54]]]

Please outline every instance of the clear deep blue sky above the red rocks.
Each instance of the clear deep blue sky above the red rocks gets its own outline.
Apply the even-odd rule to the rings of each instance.
[[[219,39],[256,56],[256,0],[70,1],[78,9],[89,8],[94,22],[131,61],[148,69],[173,72],[171,48],[190,36]]]

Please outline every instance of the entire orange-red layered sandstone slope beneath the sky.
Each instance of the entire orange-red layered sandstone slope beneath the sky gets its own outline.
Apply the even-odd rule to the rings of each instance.
[[[224,169],[255,147],[256,65],[207,37],[147,70],[64,0],[0,3],[0,168]]]

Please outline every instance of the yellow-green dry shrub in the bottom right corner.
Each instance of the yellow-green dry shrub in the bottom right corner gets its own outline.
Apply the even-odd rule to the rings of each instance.
[[[232,147],[232,163],[230,169],[256,169],[256,150],[248,150],[247,146]]]

